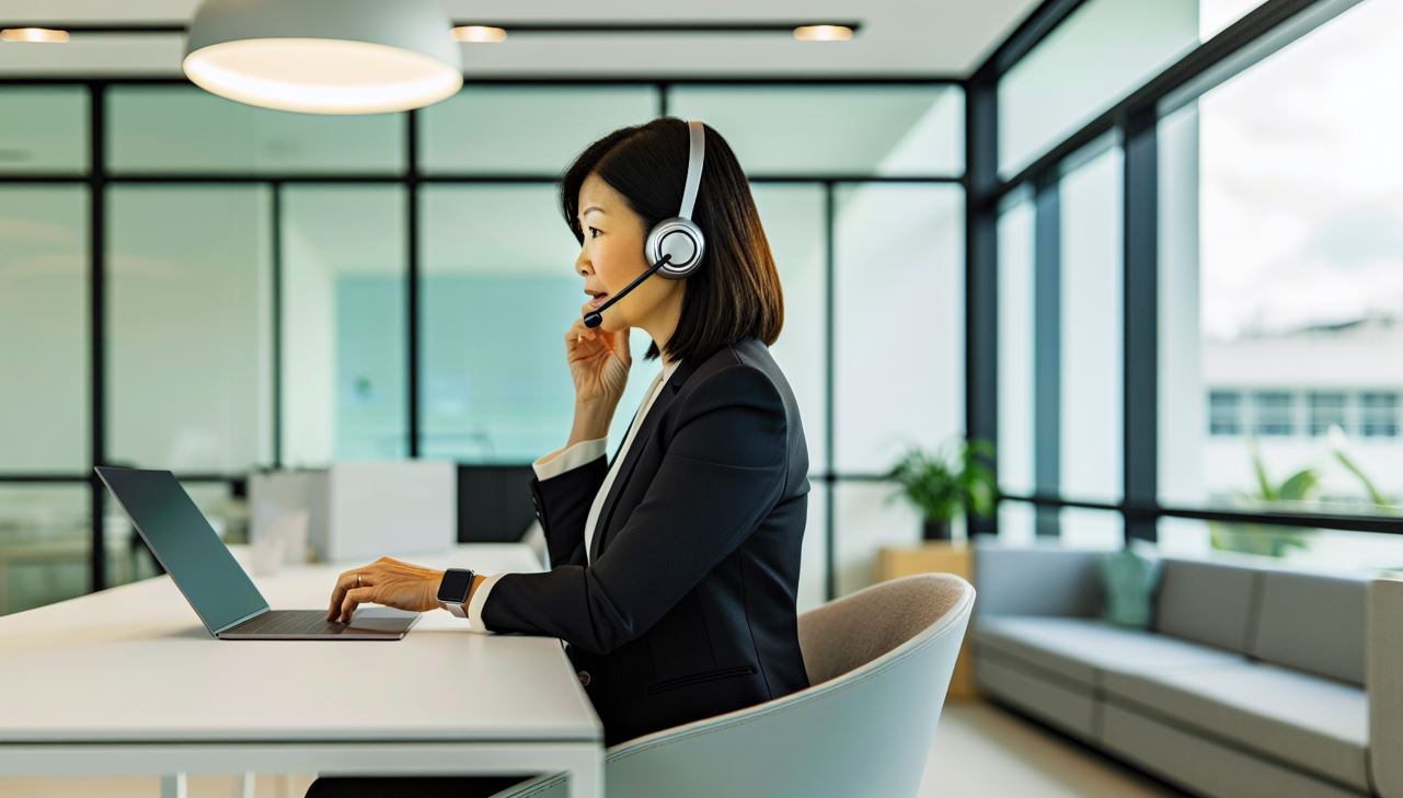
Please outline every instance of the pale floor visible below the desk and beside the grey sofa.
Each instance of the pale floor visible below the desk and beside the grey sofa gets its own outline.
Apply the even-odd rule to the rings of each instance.
[[[310,776],[260,776],[251,798],[302,798]],[[188,783],[189,798],[250,798],[229,777]],[[0,778],[4,798],[156,798],[156,778]],[[1134,770],[988,704],[946,707],[919,798],[1170,798]],[[866,798],[866,797],[863,797]]]

